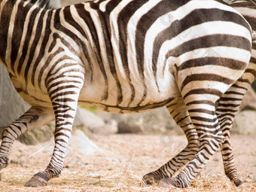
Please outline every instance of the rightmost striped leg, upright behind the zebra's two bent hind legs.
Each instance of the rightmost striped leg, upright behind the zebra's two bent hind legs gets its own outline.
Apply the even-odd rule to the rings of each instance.
[[[239,179],[239,175],[236,170],[235,160],[233,157],[233,150],[230,143],[230,129],[233,125],[233,119],[236,112],[239,110],[239,106],[242,102],[246,90],[248,89],[247,81],[241,79],[236,81],[218,102],[216,108],[216,114],[218,121],[220,122],[221,130],[224,133],[225,141],[221,145],[221,154],[224,163],[224,171],[230,181],[233,181],[236,186],[241,186],[242,181]]]

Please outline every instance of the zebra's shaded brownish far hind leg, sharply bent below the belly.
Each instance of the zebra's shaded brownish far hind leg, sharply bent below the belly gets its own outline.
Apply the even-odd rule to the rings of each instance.
[[[172,114],[175,122],[184,131],[187,137],[187,146],[159,169],[145,175],[143,179],[147,184],[158,184],[162,178],[171,178],[172,175],[189,162],[199,150],[197,130],[194,129],[183,99],[181,97],[175,98],[166,105],[166,107],[170,114]]]

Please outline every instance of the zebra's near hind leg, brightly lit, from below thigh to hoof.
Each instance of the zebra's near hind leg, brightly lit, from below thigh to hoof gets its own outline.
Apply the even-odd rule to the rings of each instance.
[[[210,157],[215,154],[215,151],[224,142],[224,136],[215,115],[214,103],[209,101],[209,104],[205,102],[200,105],[200,102],[205,101],[190,102],[190,105],[187,105],[190,118],[199,137],[199,151],[197,151],[197,154],[177,176],[161,179],[159,182],[161,187],[188,187],[203,166],[209,161]]]

